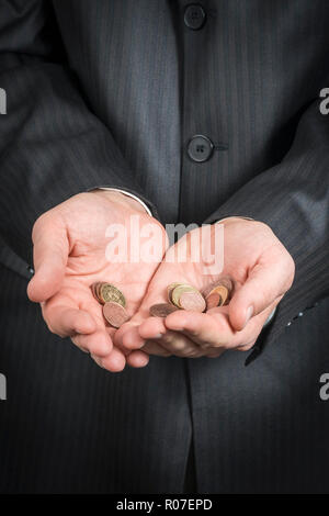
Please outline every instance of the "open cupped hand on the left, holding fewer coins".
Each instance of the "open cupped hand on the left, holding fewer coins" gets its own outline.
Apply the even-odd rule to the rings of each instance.
[[[41,303],[50,332],[70,337],[110,371],[123,370],[126,362],[133,367],[148,362],[148,355],[140,350],[113,346],[114,328],[105,326],[102,306],[90,290],[95,281],[113,283],[126,295],[128,314],[138,310],[159,261],[111,262],[105,256],[109,226],[125,227],[128,249],[132,237],[139,237],[131,234],[132,215],[138,215],[140,228],[151,224],[161,261],[167,247],[164,228],[138,201],[120,192],[94,190],[75,195],[44,213],[32,234],[35,274],[27,288],[30,300]]]

